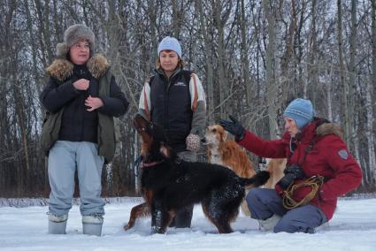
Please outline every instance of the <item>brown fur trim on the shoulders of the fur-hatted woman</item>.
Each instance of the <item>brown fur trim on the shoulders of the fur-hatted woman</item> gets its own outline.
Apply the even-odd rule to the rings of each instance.
[[[110,64],[103,55],[95,54],[93,57],[88,59],[86,63],[88,66],[88,71],[95,77],[99,79],[107,72],[110,68]],[[46,71],[51,77],[59,81],[67,80],[73,74],[73,63],[65,58],[55,59],[52,64],[46,68]]]

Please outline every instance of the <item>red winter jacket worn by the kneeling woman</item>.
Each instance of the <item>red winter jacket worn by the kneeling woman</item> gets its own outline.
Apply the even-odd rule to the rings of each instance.
[[[325,123],[316,118],[311,124],[303,127],[303,132],[291,139],[288,133],[280,140],[265,141],[253,133],[246,132],[245,137],[238,143],[257,156],[288,159],[288,165],[303,166],[306,179],[315,175],[323,176],[326,180],[319,193],[311,200],[325,214],[327,220],[333,217],[337,198],[357,188],[362,180],[362,171],[353,156],[349,154],[346,145],[341,141],[341,128],[333,123]],[[291,143],[290,143],[291,141]],[[294,149],[294,152],[290,150]],[[304,159],[304,151],[312,144]],[[295,183],[302,180],[295,180]],[[281,195],[283,190],[277,184],[275,189]],[[310,186],[297,189],[293,198],[301,201],[311,192]]]

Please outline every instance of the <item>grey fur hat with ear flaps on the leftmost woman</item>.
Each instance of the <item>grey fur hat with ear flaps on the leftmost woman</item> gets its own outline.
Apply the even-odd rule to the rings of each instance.
[[[64,33],[64,42],[60,42],[56,46],[56,56],[66,57],[69,48],[71,48],[73,44],[75,44],[76,42],[80,42],[81,40],[88,41],[88,46],[90,47],[91,54],[96,42],[96,38],[91,29],[81,24],[76,24],[68,27]]]

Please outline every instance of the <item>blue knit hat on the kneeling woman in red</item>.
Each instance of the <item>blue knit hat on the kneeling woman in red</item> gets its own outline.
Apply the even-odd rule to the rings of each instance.
[[[297,98],[288,104],[283,118],[292,118],[295,120],[297,128],[302,129],[304,125],[310,123],[315,116],[315,110],[308,99]]]

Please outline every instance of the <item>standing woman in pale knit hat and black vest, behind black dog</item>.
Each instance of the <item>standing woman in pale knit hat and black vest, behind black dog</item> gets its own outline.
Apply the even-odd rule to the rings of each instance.
[[[168,145],[193,162],[206,124],[206,103],[201,81],[183,65],[180,43],[166,36],[157,48],[155,74],[142,88],[139,113],[164,126]],[[182,209],[173,224],[190,227],[192,212],[193,205]]]

